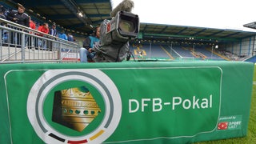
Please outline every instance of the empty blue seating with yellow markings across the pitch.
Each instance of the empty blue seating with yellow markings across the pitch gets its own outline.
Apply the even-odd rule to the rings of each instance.
[[[139,52],[142,51],[143,58],[159,58],[159,59],[170,59],[170,60],[225,60],[220,57],[216,51],[211,51],[210,48],[205,46],[168,46],[168,45],[149,45],[140,44],[131,45],[131,51],[135,58],[139,58]]]

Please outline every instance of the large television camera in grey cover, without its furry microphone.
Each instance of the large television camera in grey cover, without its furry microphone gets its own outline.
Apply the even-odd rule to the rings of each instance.
[[[137,14],[118,11],[111,20],[100,26],[100,46],[95,48],[95,62],[122,62],[129,53],[129,40],[139,33]]]

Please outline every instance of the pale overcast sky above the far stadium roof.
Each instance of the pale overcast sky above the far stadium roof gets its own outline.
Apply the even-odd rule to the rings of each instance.
[[[256,0],[133,0],[140,22],[256,31]],[[122,0],[112,0],[113,8]]]

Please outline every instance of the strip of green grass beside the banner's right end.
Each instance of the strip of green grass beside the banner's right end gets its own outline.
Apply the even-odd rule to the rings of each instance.
[[[209,142],[194,142],[194,144],[255,144],[256,143],[256,66],[254,67],[254,85],[250,107],[250,121],[247,136]]]

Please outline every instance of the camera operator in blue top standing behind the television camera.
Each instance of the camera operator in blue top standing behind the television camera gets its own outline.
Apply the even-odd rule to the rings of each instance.
[[[94,44],[95,42],[99,42],[100,37],[100,27],[96,27],[96,30],[94,30],[94,33],[92,36],[89,36],[86,38],[86,40],[82,44],[82,48],[80,48],[80,62],[88,62],[92,61],[92,59],[95,56],[94,52]]]

